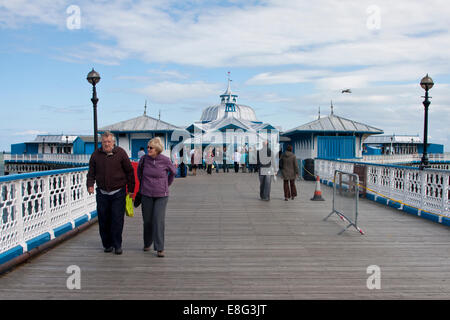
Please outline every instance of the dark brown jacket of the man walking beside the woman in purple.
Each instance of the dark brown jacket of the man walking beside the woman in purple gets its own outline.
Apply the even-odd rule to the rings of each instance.
[[[89,160],[87,187],[97,187],[104,191],[114,191],[128,187],[128,192],[134,192],[134,170],[127,153],[115,146],[111,155],[98,148]]]

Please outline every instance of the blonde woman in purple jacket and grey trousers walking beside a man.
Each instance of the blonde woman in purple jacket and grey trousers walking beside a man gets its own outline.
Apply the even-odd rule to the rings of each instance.
[[[161,154],[163,145],[156,137],[148,142],[148,154],[139,161],[137,176],[142,194],[144,219],[144,251],[153,249],[158,257],[164,257],[164,227],[169,186],[176,170],[170,159]]]

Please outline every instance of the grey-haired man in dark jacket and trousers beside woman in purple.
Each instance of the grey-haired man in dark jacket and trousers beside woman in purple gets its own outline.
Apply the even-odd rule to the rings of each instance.
[[[89,159],[87,189],[96,200],[100,238],[105,252],[122,254],[122,232],[125,215],[126,187],[134,192],[134,170],[127,153],[115,145],[114,135],[102,134],[102,146]]]

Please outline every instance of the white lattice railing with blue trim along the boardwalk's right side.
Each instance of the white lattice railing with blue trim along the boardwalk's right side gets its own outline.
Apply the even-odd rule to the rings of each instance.
[[[316,159],[315,173],[332,181],[335,170],[354,172],[355,164],[367,167],[367,193],[383,196],[423,211],[450,217],[450,171]]]

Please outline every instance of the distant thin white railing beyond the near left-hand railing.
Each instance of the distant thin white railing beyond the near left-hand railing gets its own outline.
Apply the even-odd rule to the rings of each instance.
[[[14,162],[46,162],[46,163],[73,163],[87,165],[90,154],[56,154],[56,153],[38,153],[38,154],[5,154],[5,161]]]

